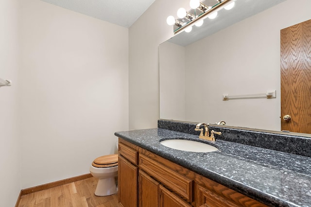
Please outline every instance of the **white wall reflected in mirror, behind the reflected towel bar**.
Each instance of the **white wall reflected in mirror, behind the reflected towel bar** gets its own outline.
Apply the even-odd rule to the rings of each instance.
[[[186,120],[280,130],[280,30],[311,19],[307,8],[310,0],[287,0],[187,46]],[[276,98],[222,100],[269,90]]]

